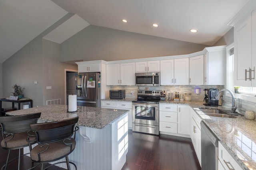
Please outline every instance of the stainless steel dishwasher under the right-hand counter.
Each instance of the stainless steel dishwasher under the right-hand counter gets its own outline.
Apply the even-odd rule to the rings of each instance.
[[[209,129],[209,127],[201,121],[201,170],[217,170],[218,169],[218,141],[219,139]]]

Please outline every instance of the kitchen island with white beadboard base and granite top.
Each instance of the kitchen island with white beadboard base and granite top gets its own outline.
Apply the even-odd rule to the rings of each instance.
[[[79,117],[76,149],[69,155],[69,160],[76,164],[78,170],[120,170],[125,164],[128,152],[128,110],[78,106],[78,111],[68,113],[65,105],[48,105],[7,114],[37,112],[41,112],[39,123]],[[28,152],[28,149],[24,149],[24,152]],[[59,166],[66,168],[65,164]]]

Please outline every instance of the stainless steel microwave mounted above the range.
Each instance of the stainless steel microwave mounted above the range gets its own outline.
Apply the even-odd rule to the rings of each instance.
[[[136,86],[160,86],[160,72],[135,73]]]

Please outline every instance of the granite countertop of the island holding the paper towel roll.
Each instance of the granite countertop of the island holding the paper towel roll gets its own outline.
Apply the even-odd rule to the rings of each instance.
[[[128,110],[115,109],[115,111],[113,111],[113,109],[78,106],[78,111],[68,113],[66,105],[48,105],[9,111],[6,114],[24,115],[38,112],[41,112],[40,119],[47,122],[60,121],[79,116],[78,126],[104,129],[128,113]]]

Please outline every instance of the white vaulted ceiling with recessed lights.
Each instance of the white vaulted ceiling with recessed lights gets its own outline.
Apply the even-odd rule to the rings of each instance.
[[[231,28],[228,22],[249,1],[0,0],[0,63],[68,13],[76,15],[45,39],[62,43],[91,24],[213,45]],[[191,33],[190,29],[198,32]]]

